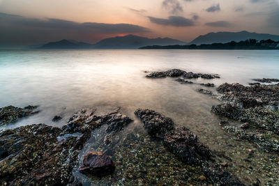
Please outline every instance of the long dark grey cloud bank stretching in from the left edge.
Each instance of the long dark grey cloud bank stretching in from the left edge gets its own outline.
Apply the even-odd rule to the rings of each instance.
[[[30,45],[49,40],[72,38],[90,40],[96,34],[144,33],[149,29],[135,24],[71,22],[59,19],[33,19],[0,13],[0,45]]]

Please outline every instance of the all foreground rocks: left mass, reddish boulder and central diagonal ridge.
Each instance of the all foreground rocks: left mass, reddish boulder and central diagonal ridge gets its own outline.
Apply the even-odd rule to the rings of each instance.
[[[211,160],[211,150],[186,127],[175,128],[171,118],[156,111],[138,109],[135,114],[151,137],[163,140],[183,163],[202,167],[203,182],[242,185],[225,166]],[[83,109],[61,128],[36,124],[5,130],[0,133],[0,185],[82,185],[72,174],[81,161],[81,173],[99,177],[113,174],[117,166],[102,152],[87,152],[84,160],[77,157],[93,130],[106,125],[102,143],[110,146],[117,132],[130,122],[118,110],[96,116],[94,111]]]

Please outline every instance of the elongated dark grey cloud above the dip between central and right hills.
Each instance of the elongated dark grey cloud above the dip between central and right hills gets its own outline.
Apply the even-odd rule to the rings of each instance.
[[[181,16],[169,16],[168,19],[149,17],[149,20],[155,24],[160,24],[165,26],[194,26],[195,25],[195,22],[193,20]]]

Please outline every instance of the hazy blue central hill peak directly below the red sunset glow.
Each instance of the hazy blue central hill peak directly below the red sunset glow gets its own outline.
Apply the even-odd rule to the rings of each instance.
[[[140,36],[128,35],[107,38],[97,42],[94,47],[100,49],[137,49],[146,45],[185,45],[185,42],[174,40],[172,38],[143,38]]]

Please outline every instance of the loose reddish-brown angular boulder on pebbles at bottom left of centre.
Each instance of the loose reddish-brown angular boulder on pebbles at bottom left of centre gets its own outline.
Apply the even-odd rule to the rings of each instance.
[[[115,166],[109,156],[94,151],[85,155],[79,170],[81,173],[90,173],[94,176],[102,177],[114,173]]]

